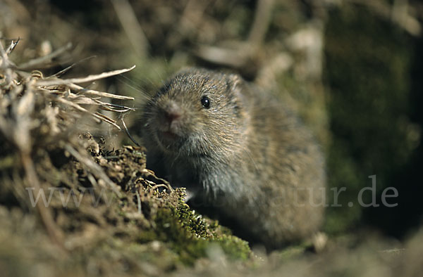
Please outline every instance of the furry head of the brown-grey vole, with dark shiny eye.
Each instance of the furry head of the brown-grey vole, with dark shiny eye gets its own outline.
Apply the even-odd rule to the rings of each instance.
[[[170,155],[224,154],[243,140],[247,113],[242,91],[238,75],[182,70],[145,106],[143,137]]]

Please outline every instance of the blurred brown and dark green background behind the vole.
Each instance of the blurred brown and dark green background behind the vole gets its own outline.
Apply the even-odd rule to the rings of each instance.
[[[422,20],[417,0],[0,0],[2,44],[20,38],[13,61],[71,42],[44,74],[75,62],[64,77],[136,65],[93,84],[137,98],[125,105],[140,107],[188,65],[238,72],[280,94],[324,147],[329,188],[346,188],[324,231],[400,239],[422,224]],[[135,134],[139,115],[125,119]],[[372,175],[363,202],[379,207],[360,207]],[[396,207],[381,202],[388,187]]]

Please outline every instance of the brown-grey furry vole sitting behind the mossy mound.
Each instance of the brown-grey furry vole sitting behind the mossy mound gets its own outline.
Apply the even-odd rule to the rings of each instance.
[[[239,75],[176,73],[143,109],[147,167],[268,249],[318,231],[324,156],[298,115]]]

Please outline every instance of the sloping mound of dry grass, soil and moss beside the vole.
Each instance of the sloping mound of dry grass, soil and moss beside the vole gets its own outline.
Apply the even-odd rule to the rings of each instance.
[[[142,148],[109,149],[87,130],[118,122],[100,111],[131,110],[127,96],[80,84],[131,70],[61,79],[43,76],[65,49],[24,65],[0,48],[0,267],[38,273],[159,274],[206,255],[209,245],[247,259],[250,249],[216,221],[202,219],[145,168]],[[33,272],[32,272],[33,273]],[[31,273],[31,274],[32,274]]]

